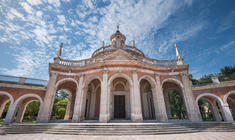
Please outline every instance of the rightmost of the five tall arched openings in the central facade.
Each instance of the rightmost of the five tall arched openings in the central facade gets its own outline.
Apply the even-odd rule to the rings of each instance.
[[[162,87],[168,119],[188,119],[182,88],[171,81],[164,82]]]

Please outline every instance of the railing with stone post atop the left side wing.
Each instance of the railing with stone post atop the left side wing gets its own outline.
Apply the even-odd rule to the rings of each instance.
[[[43,85],[43,86],[47,85],[46,80],[25,78],[25,77],[16,77],[16,76],[7,76],[7,75],[0,75],[0,82]]]

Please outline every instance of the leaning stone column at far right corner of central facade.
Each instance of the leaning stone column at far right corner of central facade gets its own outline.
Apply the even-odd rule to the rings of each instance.
[[[185,106],[187,109],[188,119],[190,121],[201,121],[200,111],[195,101],[193,91],[192,91],[192,85],[190,83],[188,75],[182,74],[181,76],[182,76],[182,81],[184,85],[184,88],[182,89],[183,91],[182,94],[183,94]]]

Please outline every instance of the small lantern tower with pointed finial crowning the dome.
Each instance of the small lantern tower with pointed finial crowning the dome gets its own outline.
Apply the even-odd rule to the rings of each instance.
[[[117,25],[117,31],[110,37],[112,42],[112,47],[114,48],[123,48],[125,47],[126,37],[119,31],[119,25]]]

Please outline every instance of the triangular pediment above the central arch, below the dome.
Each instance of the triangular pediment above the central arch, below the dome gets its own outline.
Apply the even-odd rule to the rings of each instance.
[[[136,60],[136,58],[128,52],[122,49],[118,49],[115,52],[106,56],[104,60]]]

